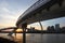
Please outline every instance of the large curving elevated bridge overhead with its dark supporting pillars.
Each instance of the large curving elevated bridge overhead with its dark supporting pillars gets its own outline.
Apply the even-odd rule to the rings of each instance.
[[[42,30],[40,22],[58,17],[65,17],[65,0],[38,0],[16,22],[16,27],[23,28],[23,43],[26,43],[26,29],[24,26],[39,22]]]

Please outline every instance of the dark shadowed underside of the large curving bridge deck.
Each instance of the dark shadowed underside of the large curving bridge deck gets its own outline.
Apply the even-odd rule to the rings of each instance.
[[[47,19],[52,19],[52,18],[58,18],[58,17],[64,17],[65,16],[65,1],[60,5],[58,3],[55,3],[49,8],[39,8],[28,15],[24,16],[17,26],[27,23],[32,24],[36,22],[41,22],[41,20],[47,20]]]

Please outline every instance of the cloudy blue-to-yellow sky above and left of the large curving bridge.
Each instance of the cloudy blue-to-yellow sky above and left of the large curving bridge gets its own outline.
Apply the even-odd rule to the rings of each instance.
[[[0,0],[0,28],[15,27],[16,20],[37,0]]]

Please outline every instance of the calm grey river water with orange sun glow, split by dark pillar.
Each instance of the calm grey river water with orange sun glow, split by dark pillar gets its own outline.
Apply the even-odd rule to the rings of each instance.
[[[0,37],[6,38],[17,43],[23,42],[23,37],[17,33],[16,37],[8,35],[6,33],[0,33]],[[40,34],[40,33],[28,33],[26,34],[26,43],[65,43],[65,34]]]

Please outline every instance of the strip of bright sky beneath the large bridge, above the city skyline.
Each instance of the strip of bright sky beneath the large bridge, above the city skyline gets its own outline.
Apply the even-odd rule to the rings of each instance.
[[[54,26],[55,27],[56,24],[60,24],[61,28],[65,27],[65,17],[53,18],[53,19],[41,22],[43,30],[47,30],[48,26]],[[41,30],[39,23],[34,23],[34,24],[28,25],[28,28],[30,28],[30,27],[35,27],[36,29]]]

